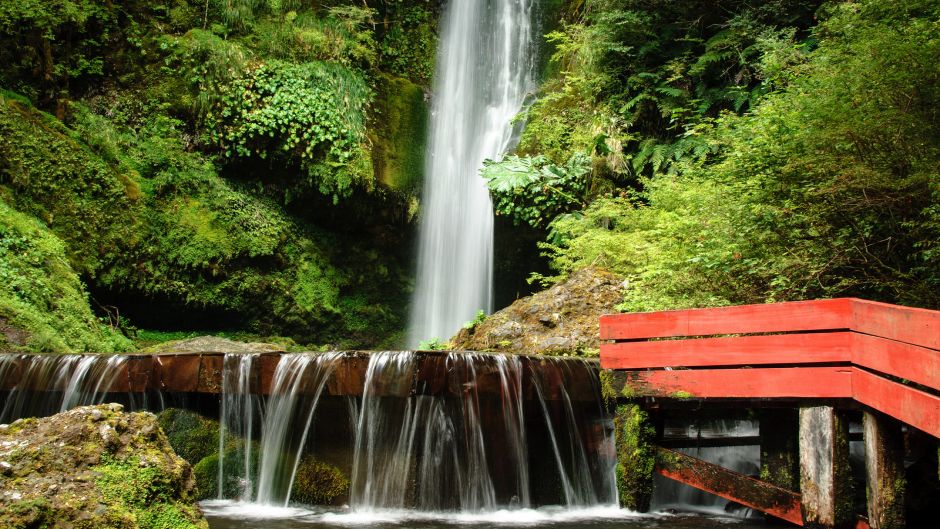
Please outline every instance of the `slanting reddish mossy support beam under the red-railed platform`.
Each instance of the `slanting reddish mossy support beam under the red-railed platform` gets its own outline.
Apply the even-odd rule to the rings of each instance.
[[[781,520],[803,524],[800,495],[776,485],[665,448],[656,449],[656,471]]]

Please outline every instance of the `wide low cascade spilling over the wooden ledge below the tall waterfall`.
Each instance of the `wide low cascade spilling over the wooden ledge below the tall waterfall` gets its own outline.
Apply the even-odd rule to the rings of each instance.
[[[485,353],[213,356],[197,369],[200,380],[220,377],[217,505],[286,507],[309,461],[348,476],[355,515],[616,508],[612,423],[596,363]],[[212,410],[211,378],[200,382],[206,390],[161,392],[159,402],[134,406],[129,388],[143,386],[128,377],[162,365],[140,360],[0,355],[4,420],[105,398],[130,410],[160,411],[162,398]]]

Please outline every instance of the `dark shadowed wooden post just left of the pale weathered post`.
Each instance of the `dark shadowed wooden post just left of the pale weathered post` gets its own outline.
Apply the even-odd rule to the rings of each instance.
[[[796,409],[760,410],[760,478],[800,490],[800,414]]]

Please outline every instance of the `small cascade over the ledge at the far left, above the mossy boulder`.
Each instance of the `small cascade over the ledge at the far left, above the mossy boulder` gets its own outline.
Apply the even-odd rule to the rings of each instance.
[[[126,361],[122,355],[0,355],[0,382],[13,386],[0,422],[101,404]],[[47,391],[44,398],[33,398],[37,389]]]

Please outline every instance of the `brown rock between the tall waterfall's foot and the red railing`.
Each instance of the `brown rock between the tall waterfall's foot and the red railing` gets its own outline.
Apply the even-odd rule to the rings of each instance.
[[[451,339],[455,349],[530,354],[596,354],[598,318],[616,312],[623,279],[585,268]]]

